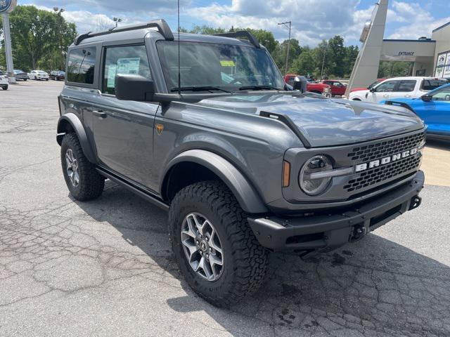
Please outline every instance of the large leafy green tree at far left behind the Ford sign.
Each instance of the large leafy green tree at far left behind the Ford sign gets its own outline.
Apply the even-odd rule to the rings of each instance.
[[[77,35],[75,24],[34,6],[17,6],[10,21],[15,67],[30,70],[39,63],[48,70],[65,64],[65,51]]]

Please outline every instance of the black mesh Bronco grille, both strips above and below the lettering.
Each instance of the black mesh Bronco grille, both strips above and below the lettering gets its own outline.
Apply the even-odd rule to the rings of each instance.
[[[396,139],[380,140],[370,145],[354,147],[347,157],[356,164],[367,163],[369,161],[390,157],[394,154],[423,145],[425,132],[403,136]],[[408,173],[418,171],[422,156],[420,152],[410,157],[392,161],[390,164],[376,166],[359,173],[358,178],[352,178],[344,185],[347,192],[368,190],[378,186],[387,180],[394,180]]]

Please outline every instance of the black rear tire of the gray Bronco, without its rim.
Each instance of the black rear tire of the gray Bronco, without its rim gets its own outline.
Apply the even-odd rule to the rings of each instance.
[[[78,162],[79,184],[72,185],[67,173],[67,163],[65,154],[71,149]],[[84,156],[82,145],[80,145],[75,133],[66,133],[61,143],[61,166],[66,185],[72,197],[79,201],[89,201],[101,196],[105,187],[105,178],[103,178],[95,169],[86,156]]]

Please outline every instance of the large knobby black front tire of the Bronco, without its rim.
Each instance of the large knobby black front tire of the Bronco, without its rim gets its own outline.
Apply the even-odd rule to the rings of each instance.
[[[181,225],[193,212],[207,217],[221,239],[224,265],[221,277],[214,282],[194,272],[181,244]],[[195,183],[176,194],[169,210],[169,237],[189,286],[212,305],[227,308],[264,282],[268,251],[257,241],[233,193],[221,182]]]

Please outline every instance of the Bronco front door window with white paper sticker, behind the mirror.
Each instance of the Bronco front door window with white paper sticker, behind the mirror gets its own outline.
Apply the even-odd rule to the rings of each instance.
[[[151,79],[145,46],[105,48],[102,92],[115,95],[115,75],[139,74]]]

